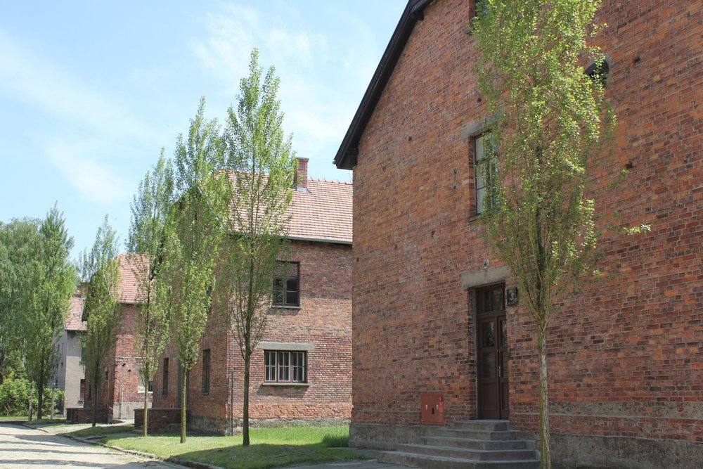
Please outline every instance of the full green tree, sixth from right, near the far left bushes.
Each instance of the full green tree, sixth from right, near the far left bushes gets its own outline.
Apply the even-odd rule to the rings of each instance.
[[[76,287],[76,271],[70,262],[72,248],[73,238],[68,236],[63,214],[54,205],[39,227],[39,250],[32,259],[30,276],[22,285],[27,295],[25,356],[27,373],[37,385],[37,418],[41,418],[44,407],[44,386],[58,363],[56,342]]]

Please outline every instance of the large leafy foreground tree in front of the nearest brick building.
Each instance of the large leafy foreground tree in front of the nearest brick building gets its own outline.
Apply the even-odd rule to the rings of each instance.
[[[508,265],[536,325],[541,466],[550,468],[547,335],[555,304],[593,274],[594,201],[587,170],[614,125],[602,77],[583,72],[603,57],[587,40],[598,0],[483,0],[473,21],[477,75],[494,152],[482,215],[486,238]]]

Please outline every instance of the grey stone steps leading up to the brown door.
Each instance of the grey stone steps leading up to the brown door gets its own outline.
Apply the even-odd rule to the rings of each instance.
[[[418,444],[381,451],[378,461],[426,469],[538,469],[534,442],[517,439],[506,420],[470,420],[432,427]]]

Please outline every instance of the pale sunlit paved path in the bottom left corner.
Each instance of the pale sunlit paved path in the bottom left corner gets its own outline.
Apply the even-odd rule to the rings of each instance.
[[[0,423],[0,468],[173,468],[22,425]]]

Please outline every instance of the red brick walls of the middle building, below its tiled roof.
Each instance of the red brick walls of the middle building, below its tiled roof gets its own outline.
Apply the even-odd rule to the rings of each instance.
[[[300,264],[300,308],[271,314],[264,341],[304,342],[307,386],[269,386],[264,381],[264,351],[252,356],[250,418],[349,418],[351,413],[352,248],[349,245],[293,241],[291,260]],[[202,393],[202,350],[210,349],[210,390]],[[162,395],[162,369],[154,382],[155,406],[177,406],[177,359],[170,356],[169,394]],[[162,365],[163,359],[160,364]],[[230,410],[234,372],[233,402]],[[188,408],[193,418],[242,417],[243,359],[232,335],[226,333],[217,311],[200,342],[200,359],[190,373]]]

